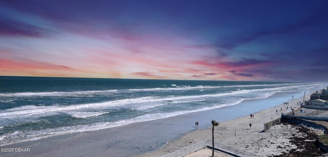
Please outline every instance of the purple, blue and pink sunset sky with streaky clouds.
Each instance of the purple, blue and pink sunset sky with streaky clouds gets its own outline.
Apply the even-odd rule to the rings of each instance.
[[[328,79],[328,1],[4,1],[0,75]]]

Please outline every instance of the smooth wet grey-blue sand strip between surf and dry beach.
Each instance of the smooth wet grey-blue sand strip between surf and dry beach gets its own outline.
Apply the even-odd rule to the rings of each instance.
[[[291,99],[290,95],[292,94],[298,93],[299,95],[299,92],[287,93],[288,94],[285,92],[275,93],[265,99],[245,100],[234,106],[226,106],[213,110],[182,114],[167,117],[165,119],[138,122],[95,131],[56,135],[33,141],[5,145],[2,147],[23,147],[30,148],[31,151],[27,153],[3,153],[0,154],[0,156],[69,156],[76,154],[83,154],[83,156],[95,154],[98,156],[116,156],[117,154],[119,154],[117,156],[144,155],[145,153],[151,153],[158,151],[159,149],[163,149],[168,145],[168,142],[180,139],[182,136],[194,131],[194,121],[199,121],[200,129],[197,131],[207,130],[209,126],[208,121],[210,121],[213,116],[216,116],[215,119],[220,120],[220,123],[222,121],[231,121],[236,118],[239,119],[240,115],[247,115],[250,112],[259,112],[260,107],[261,110],[265,110],[271,108],[268,106],[276,106],[274,104],[281,104],[282,100]],[[261,102],[267,102],[267,104],[263,105]],[[256,105],[258,107],[256,107]],[[213,112],[219,112],[222,115]],[[256,116],[257,115],[255,114],[254,119],[257,118]],[[222,123],[224,124],[224,122]],[[45,150],[51,151],[48,152]]]

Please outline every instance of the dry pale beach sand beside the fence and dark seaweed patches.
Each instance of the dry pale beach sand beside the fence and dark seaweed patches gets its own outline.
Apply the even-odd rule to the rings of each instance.
[[[309,99],[310,94],[307,94],[305,96],[305,100]],[[297,149],[297,146],[291,143],[290,138],[295,136],[304,138],[306,136],[305,133],[298,132],[298,127],[285,124],[273,126],[266,132],[263,132],[263,129],[264,123],[281,117],[281,108],[285,109],[288,106],[289,110],[285,111],[290,111],[290,108],[296,107],[297,102],[299,101],[303,101],[303,99],[294,99],[289,101],[289,105],[281,104],[279,106],[254,113],[254,119],[248,115],[222,122],[215,128],[214,139],[217,142],[228,144],[230,146],[262,156],[282,155],[283,152],[289,152],[292,149]],[[278,113],[276,113],[276,110],[278,110]],[[252,123],[251,129],[249,126],[250,123]],[[322,130],[313,129],[313,131],[316,131],[316,134],[323,134]],[[183,135],[178,140],[168,143],[160,150],[142,154],[140,156],[165,155],[169,152],[173,152],[205,139],[211,140],[211,137],[211,127],[208,129],[199,129]]]

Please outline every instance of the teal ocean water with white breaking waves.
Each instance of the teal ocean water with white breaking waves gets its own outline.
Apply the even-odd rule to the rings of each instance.
[[[0,145],[311,91],[325,83],[0,77]]]

